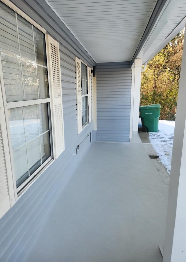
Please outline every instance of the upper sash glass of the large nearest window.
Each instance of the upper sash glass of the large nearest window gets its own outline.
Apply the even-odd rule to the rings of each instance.
[[[3,3],[0,3],[0,22],[7,102],[49,98],[44,33]]]

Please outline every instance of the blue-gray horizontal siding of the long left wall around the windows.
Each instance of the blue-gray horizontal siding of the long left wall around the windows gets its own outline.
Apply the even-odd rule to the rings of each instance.
[[[0,219],[0,261],[24,261],[23,256],[32,248],[47,213],[61,194],[71,177],[78,161],[83,157],[90,145],[90,137],[80,146],[76,155],[76,147],[93,130],[93,124],[87,125],[81,134],[77,135],[76,106],[76,73],[75,56],[80,57],[89,66],[95,65],[92,58],[72,40],[68,41],[65,33],[60,35],[60,29],[51,25],[55,17],[45,16],[42,7],[36,1],[14,1],[36,22],[47,29],[60,45],[60,65],[62,79],[62,100],[64,114],[65,151],[55,160],[44,173],[24,192],[15,205]],[[47,21],[45,21],[45,19]],[[70,42],[70,43],[69,43]]]

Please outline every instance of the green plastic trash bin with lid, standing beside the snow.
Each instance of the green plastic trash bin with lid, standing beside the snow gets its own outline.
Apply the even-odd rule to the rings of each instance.
[[[158,121],[160,117],[159,104],[146,105],[140,107],[140,117],[142,120],[142,128],[146,132],[158,132]]]

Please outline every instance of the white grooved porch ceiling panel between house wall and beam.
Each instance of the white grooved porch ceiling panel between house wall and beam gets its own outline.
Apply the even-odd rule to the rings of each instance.
[[[48,0],[96,62],[131,61],[157,0]]]

